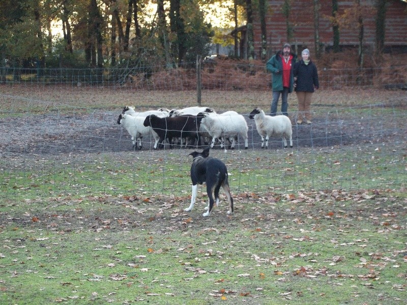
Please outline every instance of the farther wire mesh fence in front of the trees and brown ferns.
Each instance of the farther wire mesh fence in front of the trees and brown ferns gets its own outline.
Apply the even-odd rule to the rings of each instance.
[[[194,63],[168,69],[165,66],[133,69],[22,69],[0,68],[0,83],[55,87],[105,87],[109,89],[188,90],[197,88]],[[318,67],[320,86],[325,89],[347,87],[407,89],[407,66],[391,65],[377,68]],[[261,62],[234,60],[204,61],[201,65],[202,89],[242,90],[267,89],[271,76]]]

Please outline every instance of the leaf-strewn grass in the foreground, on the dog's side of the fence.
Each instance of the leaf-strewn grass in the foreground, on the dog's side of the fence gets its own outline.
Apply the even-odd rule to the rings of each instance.
[[[240,194],[0,205],[2,303],[305,304],[405,300],[405,193]],[[149,202],[147,202],[149,201]]]

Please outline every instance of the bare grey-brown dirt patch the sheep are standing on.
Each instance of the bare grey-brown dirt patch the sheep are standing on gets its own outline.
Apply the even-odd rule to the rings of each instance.
[[[371,142],[405,141],[407,138],[404,114],[372,108],[358,113],[356,109],[319,112],[311,125],[297,125],[292,116],[294,147],[325,147]],[[0,149],[13,154],[88,154],[117,153],[132,150],[128,132],[116,123],[117,112],[95,112],[92,115],[60,116],[30,115],[16,119],[1,119]],[[244,117],[249,126],[250,149],[260,149],[261,139],[254,120]],[[153,149],[149,137],[143,138],[143,150]],[[240,141],[238,148],[243,149]],[[279,138],[271,139],[270,149],[282,148]]]

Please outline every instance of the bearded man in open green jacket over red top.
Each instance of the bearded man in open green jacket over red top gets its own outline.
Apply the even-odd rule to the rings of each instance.
[[[297,54],[291,52],[291,46],[286,43],[266,64],[267,70],[272,74],[271,84],[273,89],[273,101],[271,103],[271,115],[276,115],[278,99],[281,95],[281,112],[288,116],[288,94],[293,92],[294,76],[293,69]]]

